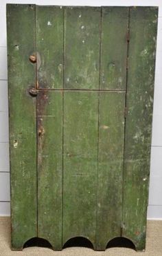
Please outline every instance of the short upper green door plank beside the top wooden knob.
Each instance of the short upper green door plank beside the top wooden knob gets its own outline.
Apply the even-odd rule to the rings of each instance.
[[[62,88],[63,9],[36,6],[38,88]]]

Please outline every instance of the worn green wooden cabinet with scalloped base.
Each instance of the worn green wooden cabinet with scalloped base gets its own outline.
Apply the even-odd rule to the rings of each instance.
[[[146,243],[157,8],[7,6],[12,248]]]

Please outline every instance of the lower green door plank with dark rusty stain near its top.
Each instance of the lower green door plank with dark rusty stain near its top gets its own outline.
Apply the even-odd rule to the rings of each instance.
[[[62,92],[37,96],[38,237],[62,248]]]

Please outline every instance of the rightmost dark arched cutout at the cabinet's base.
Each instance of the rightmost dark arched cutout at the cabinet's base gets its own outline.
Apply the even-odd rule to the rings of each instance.
[[[115,237],[111,239],[106,245],[106,249],[112,247],[124,247],[136,250],[135,244],[133,244],[133,242],[126,237]]]

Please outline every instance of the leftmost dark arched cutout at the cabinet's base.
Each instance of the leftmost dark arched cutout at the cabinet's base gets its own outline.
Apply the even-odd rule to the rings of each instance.
[[[51,244],[46,239],[40,237],[32,237],[31,239],[27,240],[27,242],[25,242],[25,244],[23,245],[23,248],[32,246],[47,247],[52,249]]]

